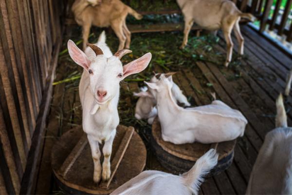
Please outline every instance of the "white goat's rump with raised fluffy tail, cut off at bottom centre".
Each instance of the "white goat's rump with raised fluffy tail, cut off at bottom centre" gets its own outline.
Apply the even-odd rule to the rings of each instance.
[[[218,154],[211,149],[181,176],[161,171],[144,171],[110,195],[197,195],[203,176],[216,166],[217,160]]]

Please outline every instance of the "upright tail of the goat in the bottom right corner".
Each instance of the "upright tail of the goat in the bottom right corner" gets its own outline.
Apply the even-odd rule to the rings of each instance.
[[[284,107],[283,96],[282,94],[276,99],[276,127],[287,127],[287,115]]]

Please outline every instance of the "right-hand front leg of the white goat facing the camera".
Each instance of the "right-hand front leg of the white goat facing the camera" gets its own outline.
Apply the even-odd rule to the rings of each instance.
[[[112,142],[115,137],[116,130],[113,130],[113,133],[110,136],[110,139],[105,141],[105,145],[102,149],[104,154],[104,161],[102,163],[102,180],[106,181],[110,179],[110,156],[112,149]]]

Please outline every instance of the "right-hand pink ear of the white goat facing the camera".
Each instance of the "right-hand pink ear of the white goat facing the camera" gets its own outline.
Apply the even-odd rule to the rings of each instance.
[[[147,53],[141,58],[135,59],[134,61],[131,61],[130,63],[123,66],[123,79],[128,77],[129,75],[140,73],[141,71],[143,71],[148,66],[151,58],[151,53]]]

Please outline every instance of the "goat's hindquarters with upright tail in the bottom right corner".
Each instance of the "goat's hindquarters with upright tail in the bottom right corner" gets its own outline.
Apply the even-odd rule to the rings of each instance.
[[[292,127],[287,127],[287,116],[282,95],[276,100],[276,128],[269,132],[258,153],[246,194],[292,194]]]

